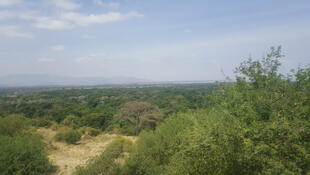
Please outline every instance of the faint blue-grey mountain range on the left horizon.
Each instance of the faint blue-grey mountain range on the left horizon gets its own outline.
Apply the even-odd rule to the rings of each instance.
[[[134,77],[69,77],[57,75],[8,75],[0,76],[0,86],[61,86],[145,83],[148,80]]]

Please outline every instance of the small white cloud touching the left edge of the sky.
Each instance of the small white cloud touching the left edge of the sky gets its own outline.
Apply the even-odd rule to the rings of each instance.
[[[18,26],[13,25],[0,26],[0,34],[12,38],[31,39],[34,37],[32,33],[20,31]]]

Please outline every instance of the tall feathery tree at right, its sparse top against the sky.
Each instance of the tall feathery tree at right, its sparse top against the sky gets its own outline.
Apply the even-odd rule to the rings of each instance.
[[[278,72],[282,57],[281,46],[271,47],[270,53],[261,60],[250,58],[236,69],[239,76],[236,84],[238,91],[235,93],[242,97],[243,107],[244,103],[253,106],[263,120],[269,120],[272,111],[281,107],[281,100],[289,91],[289,80]]]

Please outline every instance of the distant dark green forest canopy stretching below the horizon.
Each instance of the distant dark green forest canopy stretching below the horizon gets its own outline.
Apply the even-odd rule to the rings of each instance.
[[[118,86],[113,88],[16,89],[16,94],[0,94],[0,116],[22,114],[32,118],[33,126],[48,127],[49,122],[63,123],[73,128],[88,126],[102,130],[118,130],[136,134],[136,127],[118,122],[114,116],[130,102],[146,102],[158,106],[163,117],[204,106],[204,94],[214,84]],[[0,90],[1,91],[1,90]],[[25,93],[22,93],[25,91]],[[26,91],[29,91],[26,93]],[[0,92],[1,93],[1,92]],[[48,116],[48,117],[45,117]],[[69,116],[75,116],[69,120]],[[72,119],[72,118],[71,118]],[[64,121],[66,120],[66,121]],[[70,123],[71,122],[71,123]],[[126,126],[119,128],[125,124]],[[149,128],[148,128],[149,129]]]

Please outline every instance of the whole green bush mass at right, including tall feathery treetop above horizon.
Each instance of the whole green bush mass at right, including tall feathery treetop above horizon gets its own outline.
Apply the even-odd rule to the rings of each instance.
[[[143,133],[120,174],[308,174],[310,69],[284,77],[280,51],[242,63],[207,109]]]

